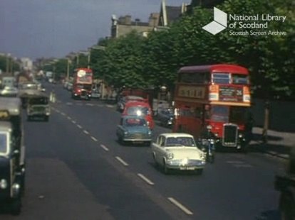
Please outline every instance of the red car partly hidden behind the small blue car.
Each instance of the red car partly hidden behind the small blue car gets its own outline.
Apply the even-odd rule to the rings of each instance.
[[[128,101],[125,105],[125,109],[122,113],[122,116],[143,116],[148,122],[150,129],[153,129],[155,122],[152,119],[152,109],[150,104],[144,101]]]

